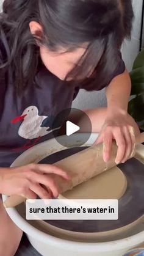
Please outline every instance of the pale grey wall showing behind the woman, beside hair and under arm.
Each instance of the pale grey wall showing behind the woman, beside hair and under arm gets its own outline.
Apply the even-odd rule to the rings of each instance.
[[[123,59],[126,67],[131,71],[132,64],[134,62],[140,47],[140,29],[142,21],[142,0],[133,0],[134,6],[134,25],[132,31],[131,41],[125,41],[122,47]],[[99,106],[106,106],[105,90],[100,92],[85,92],[81,90],[76,100],[74,100],[73,107],[79,109],[85,108],[98,108]]]

